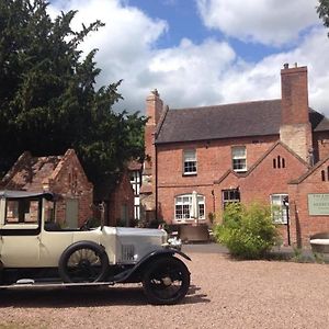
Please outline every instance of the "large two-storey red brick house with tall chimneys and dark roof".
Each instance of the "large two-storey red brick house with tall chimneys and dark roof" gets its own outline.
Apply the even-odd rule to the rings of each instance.
[[[180,110],[151,92],[143,217],[193,225],[195,191],[197,223],[220,220],[227,203],[259,201],[281,208],[273,219],[285,242],[306,245],[329,231],[329,194],[321,211],[310,209],[318,207],[313,195],[329,193],[329,121],[308,106],[306,67],[285,65],[281,82],[279,100]]]

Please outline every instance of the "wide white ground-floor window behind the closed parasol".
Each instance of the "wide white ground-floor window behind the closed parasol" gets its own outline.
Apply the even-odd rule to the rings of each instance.
[[[179,195],[174,198],[174,218],[177,222],[193,220],[192,194]],[[205,219],[205,197],[197,194],[197,219]]]

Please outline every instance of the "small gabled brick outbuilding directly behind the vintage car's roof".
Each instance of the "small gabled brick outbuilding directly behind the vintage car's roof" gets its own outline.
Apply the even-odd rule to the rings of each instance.
[[[32,157],[25,151],[3,177],[0,188],[59,194],[55,220],[66,227],[80,227],[93,215],[93,186],[72,149],[64,156],[48,157]]]

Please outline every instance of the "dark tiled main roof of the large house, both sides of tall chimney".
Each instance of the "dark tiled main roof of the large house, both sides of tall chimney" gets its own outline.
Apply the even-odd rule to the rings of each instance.
[[[329,131],[329,121],[309,109],[316,132]],[[157,144],[279,135],[281,100],[168,110],[159,123]]]

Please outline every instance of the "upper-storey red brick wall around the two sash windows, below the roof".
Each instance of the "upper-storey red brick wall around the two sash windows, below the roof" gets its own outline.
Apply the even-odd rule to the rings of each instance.
[[[191,186],[213,184],[231,168],[231,147],[246,146],[248,169],[266,151],[279,136],[235,138],[200,143],[177,143],[158,146],[158,186]],[[197,175],[183,175],[183,150],[196,149]],[[169,174],[170,173],[170,174]]]

